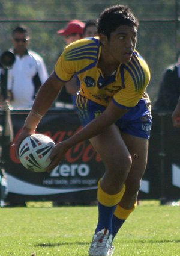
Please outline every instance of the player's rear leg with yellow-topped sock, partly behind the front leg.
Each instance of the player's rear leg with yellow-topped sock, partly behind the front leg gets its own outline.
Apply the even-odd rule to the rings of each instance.
[[[125,193],[121,202],[116,207],[112,229],[113,238],[128,218],[130,213],[136,208],[137,194],[140,187],[140,180],[146,169],[148,155],[148,139],[133,137],[128,134],[122,134],[125,144],[130,151],[132,158],[131,170],[125,181]]]

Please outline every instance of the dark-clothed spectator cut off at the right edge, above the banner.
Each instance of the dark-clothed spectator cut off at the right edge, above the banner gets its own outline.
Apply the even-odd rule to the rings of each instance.
[[[160,84],[157,101],[154,104],[155,111],[175,110],[180,95],[180,63],[177,62],[167,67]]]

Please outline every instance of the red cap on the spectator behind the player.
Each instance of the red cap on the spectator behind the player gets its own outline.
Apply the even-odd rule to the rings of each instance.
[[[67,27],[58,30],[57,33],[61,36],[68,36],[70,34],[83,34],[85,23],[78,19],[74,19],[67,23]]]

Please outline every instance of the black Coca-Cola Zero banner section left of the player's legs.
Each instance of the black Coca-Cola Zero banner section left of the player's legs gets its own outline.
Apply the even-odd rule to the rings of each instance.
[[[18,136],[28,113],[29,111],[20,110],[11,112],[14,139]],[[41,120],[37,133],[46,134],[58,143],[72,136],[80,128],[76,111],[50,110]],[[71,148],[65,155],[65,160],[51,173],[26,170],[16,158],[13,147],[5,146],[4,151],[10,193],[25,196],[26,199],[55,199],[56,196],[60,201],[96,199],[97,182],[103,175],[104,166],[88,141]]]

